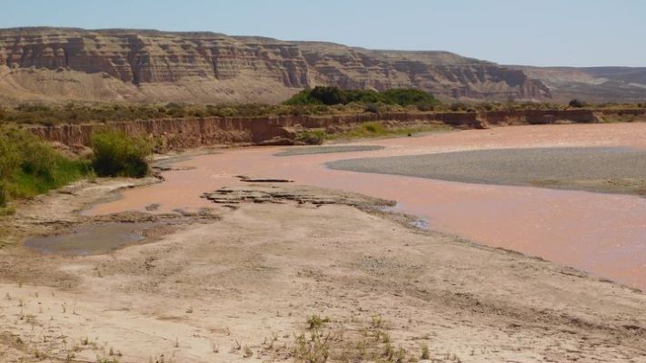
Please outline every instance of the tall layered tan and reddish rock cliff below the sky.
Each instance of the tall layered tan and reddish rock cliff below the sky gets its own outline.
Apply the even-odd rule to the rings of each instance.
[[[280,102],[304,87],[418,87],[444,99],[543,100],[522,70],[446,52],[214,33],[0,30],[0,100]]]

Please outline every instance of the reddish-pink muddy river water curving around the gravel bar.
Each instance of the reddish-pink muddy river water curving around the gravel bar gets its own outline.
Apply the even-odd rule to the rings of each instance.
[[[249,148],[183,162],[195,169],[164,173],[166,182],[124,191],[124,198],[92,214],[213,207],[199,196],[240,183],[234,175],[293,179],[398,201],[398,209],[451,232],[495,247],[590,271],[646,289],[646,198],[586,191],[466,184],[397,175],[344,172],[323,164],[354,157],[472,149],[549,146],[627,146],[646,149],[646,123],[504,127],[436,133],[419,138],[359,142],[383,145],[371,152],[273,156],[283,148]]]

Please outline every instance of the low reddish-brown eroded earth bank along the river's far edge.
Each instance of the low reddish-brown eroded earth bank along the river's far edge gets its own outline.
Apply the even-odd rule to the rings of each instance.
[[[440,122],[467,128],[487,124],[597,123],[601,118],[627,117],[621,121],[646,122],[645,109],[604,110],[516,110],[483,113],[363,113],[346,116],[203,117],[141,120],[123,123],[63,124],[31,126],[29,131],[49,142],[88,145],[93,132],[121,130],[133,136],[152,137],[158,150],[172,150],[215,144],[290,144],[296,132],[324,129],[339,132],[359,123],[384,122],[391,125]]]

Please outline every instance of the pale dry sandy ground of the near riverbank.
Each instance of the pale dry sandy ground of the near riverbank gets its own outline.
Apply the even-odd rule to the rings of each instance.
[[[97,188],[19,213],[40,216],[32,225],[95,222],[78,207],[103,200]],[[439,362],[646,361],[646,295],[633,289],[414,229],[357,194],[291,183],[221,194],[217,219],[108,255],[0,250],[0,361],[298,361],[321,350],[394,361],[391,345],[406,360],[426,345]],[[316,334],[314,314],[329,318]]]

